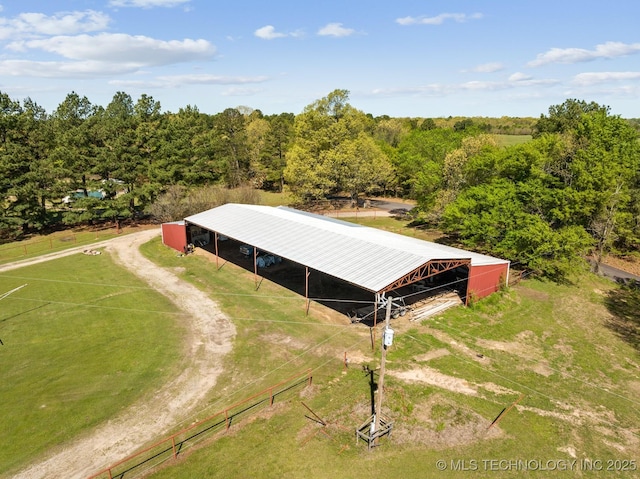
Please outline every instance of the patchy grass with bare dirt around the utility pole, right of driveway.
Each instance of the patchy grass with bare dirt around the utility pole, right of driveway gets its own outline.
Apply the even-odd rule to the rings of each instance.
[[[176,264],[160,249],[149,253]],[[231,374],[212,398],[211,410],[239,399],[235,391],[248,391],[248,384],[257,390],[257,383],[275,382],[285,370],[314,368],[314,387],[271,414],[257,415],[250,425],[212,438],[179,465],[169,464],[151,477],[355,478],[386,470],[397,477],[424,478],[440,475],[438,459],[450,469],[451,461],[459,460],[476,461],[482,468],[483,459],[571,460],[572,455],[638,465],[640,364],[638,350],[608,327],[611,313],[604,304],[616,294],[613,283],[590,275],[571,286],[532,280],[423,324],[400,320],[388,371],[428,366],[465,381],[476,393],[402,381],[390,373],[385,409],[396,426],[391,440],[369,453],[354,442],[354,429],[371,408],[368,376],[360,366],[377,364],[363,328],[321,327],[318,319],[301,313],[299,298],[276,285],[263,283],[253,294],[253,275],[233,265],[212,272],[204,258],[181,264],[186,278],[215,290],[240,326],[228,365]],[[446,354],[418,359],[436,350]],[[343,351],[355,358],[347,371],[340,363]],[[519,405],[488,431],[521,394]],[[329,423],[327,434],[305,417],[303,401]],[[582,473],[602,476],[601,471]],[[514,470],[491,474],[518,475]],[[536,471],[537,477],[557,474]]]

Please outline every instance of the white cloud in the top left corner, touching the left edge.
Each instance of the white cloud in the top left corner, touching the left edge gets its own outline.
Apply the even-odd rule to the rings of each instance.
[[[22,13],[15,18],[0,18],[0,39],[15,39],[40,35],[69,35],[104,30],[110,18],[102,12]]]

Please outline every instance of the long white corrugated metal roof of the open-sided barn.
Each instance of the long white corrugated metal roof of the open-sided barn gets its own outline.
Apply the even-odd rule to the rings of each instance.
[[[228,203],[185,220],[373,292],[432,260],[508,263],[283,206]]]

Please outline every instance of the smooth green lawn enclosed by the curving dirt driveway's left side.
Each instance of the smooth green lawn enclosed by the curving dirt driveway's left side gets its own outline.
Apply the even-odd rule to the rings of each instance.
[[[0,474],[113,417],[174,372],[176,308],[108,255],[0,275]]]

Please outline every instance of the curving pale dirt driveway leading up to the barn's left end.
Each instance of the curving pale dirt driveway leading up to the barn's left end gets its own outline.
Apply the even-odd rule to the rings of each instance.
[[[144,258],[138,248],[160,233],[159,229],[128,234],[91,245],[105,247],[122,266],[167,296],[185,314],[187,340],[181,358],[181,374],[160,389],[107,421],[94,431],[41,458],[15,478],[86,478],[135,452],[141,444],[166,434],[196,410],[216,385],[220,357],[229,353],[235,327],[218,305],[202,291],[170,271]],[[61,256],[77,254],[85,247],[0,266],[0,272]]]

